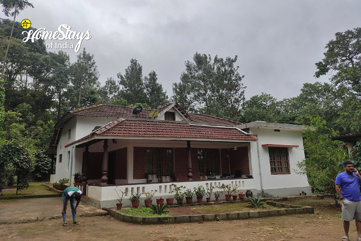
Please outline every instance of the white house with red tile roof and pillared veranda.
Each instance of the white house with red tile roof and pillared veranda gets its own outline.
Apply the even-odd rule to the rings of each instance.
[[[72,174],[82,172],[83,184],[75,185],[99,208],[115,207],[115,188],[128,195],[157,189],[156,195],[169,196],[172,183],[310,193],[306,176],[295,172],[304,159],[303,128],[186,113],[176,102],[159,110],[88,106],[69,111],[55,125],[48,150],[56,161],[51,182],[66,177],[74,183]]]

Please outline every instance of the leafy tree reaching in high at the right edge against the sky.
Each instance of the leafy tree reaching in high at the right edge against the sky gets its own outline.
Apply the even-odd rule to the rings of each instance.
[[[316,63],[315,77],[333,72],[331,80],[361,94],[361,28],[335,34],[326,45],[322,61]]]

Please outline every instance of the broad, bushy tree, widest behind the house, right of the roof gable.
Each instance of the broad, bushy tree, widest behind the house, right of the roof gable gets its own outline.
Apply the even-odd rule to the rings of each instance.
[[[173,84],[173,99],[187,111],[209,115],[224,113],[224,118],[236,119],[244,101],[244,76],[238,73],[235,58],[225,60],[217,55],[195,53],[193,62],[185,62],[181,81]],[[214,113],[216,112],[216,113]]]

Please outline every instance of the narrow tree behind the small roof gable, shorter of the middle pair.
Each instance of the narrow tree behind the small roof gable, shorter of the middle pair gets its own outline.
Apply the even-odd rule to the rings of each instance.
[[[162,84],[158,83],[157,80],[158,78],[155,71],[152,71],[148,76],[144,77],[144,84],[148,98],[147,103],[153,109],[159,109],[168,103],[166,91],[163,91]]]

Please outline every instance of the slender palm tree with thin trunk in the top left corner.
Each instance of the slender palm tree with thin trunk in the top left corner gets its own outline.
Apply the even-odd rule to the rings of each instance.
[[[9,50],[12,31],[14,30],[15,18],[20,13],[20,11],[24,10],[27,7],[34,7],[34,6],[30,2],[28,2],[27,0],[0,0],[0,4],[2,5],[2,8],[3,8],[2,11],[6,16],[9,17],[11,15],[12,17],[14,17],[14,20],[12,22],[10,37],[7,40],[7,47],[6,47],[6,51],[5,51],[4,60],[2,62],[1,78],[3,78],[4,77],[6,57],[7,57],[7,51]],[[14,9],[13,12],[11,12],[12,9]],[[1,82],[1,86],[2,86],[2,84],[3,83]]]

